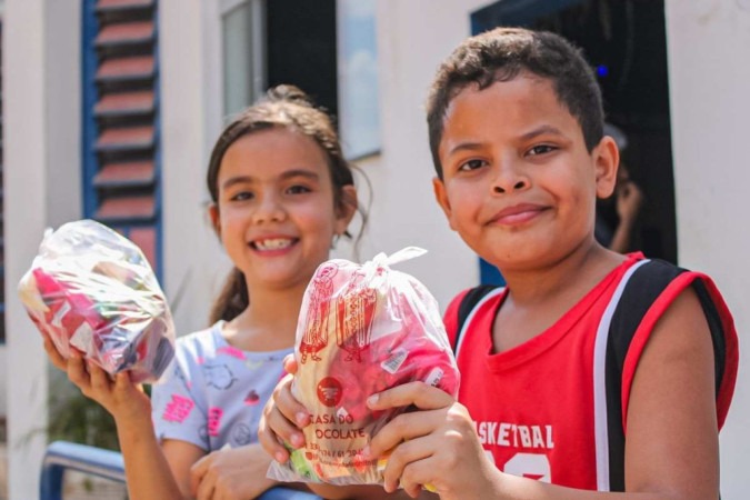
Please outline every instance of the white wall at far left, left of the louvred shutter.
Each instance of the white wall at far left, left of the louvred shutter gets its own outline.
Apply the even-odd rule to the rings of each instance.
[[[47,357],[16,286],[43,230],[80,217],[80,2],[9,0],[3,26],[6,327],[10,498],[36,498]]]

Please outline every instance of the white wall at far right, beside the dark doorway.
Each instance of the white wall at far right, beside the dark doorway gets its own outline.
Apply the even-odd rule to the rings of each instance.
[[[742,6],[746,6],[742,8]],[[750,2],[667,1],[679,260],[709,272],[734,314],[740,373],[721,433],[722,498],[748,498]]]

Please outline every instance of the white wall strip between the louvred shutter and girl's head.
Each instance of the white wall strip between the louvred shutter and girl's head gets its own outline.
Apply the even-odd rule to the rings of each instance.
[[[221,127],[216,7],[200,0],[159,3],[162,284],[179,334],[208,326],[228,267],[207,212],[206,171]]]

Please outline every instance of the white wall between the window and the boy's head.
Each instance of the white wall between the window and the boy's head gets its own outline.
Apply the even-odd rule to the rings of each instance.
[[[487,1],[378,1],[381,137],[363,254],[418,246],[429,253],[399,267],[419,278],[444,308],[479,281],[477,258],[452,233],[432,196],[424,100],[438,64],[471,32],[469,13]]]

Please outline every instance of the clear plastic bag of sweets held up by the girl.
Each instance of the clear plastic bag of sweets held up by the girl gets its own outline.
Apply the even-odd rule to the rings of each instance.
[[[18,287],[37,328],[110,374],[159,379],[174,356],[169,304],[141,250],[92,220],[47,230]]]

